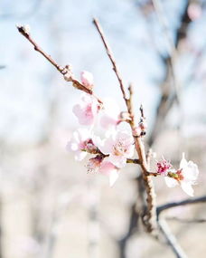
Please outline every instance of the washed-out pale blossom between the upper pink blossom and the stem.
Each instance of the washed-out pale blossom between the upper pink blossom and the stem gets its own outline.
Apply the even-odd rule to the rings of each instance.
[[[103,129],[115,127],[119,121],[119,107],[115,100],[104,100],[104,109],[101,111],[100,125]]]

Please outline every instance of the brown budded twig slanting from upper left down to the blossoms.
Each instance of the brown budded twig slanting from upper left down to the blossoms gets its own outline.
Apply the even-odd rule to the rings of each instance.
[[[77,88],[80,91],[84,91],[86,93],[88,93],[89,95],[94,96],[98,102],[100,104],[102,104],[102,101],[98,99],[98,97],[96,97],[93,94],[93,91],[89,88],[87,88],[86,86],[84,86],[82,83],[80,83],[80,81],[76,80],[75,78],[73,78],[72,73],[70,72],[70,66],[66,65],[65,67],[61,67],[57,62],[55,62],[52,59],[52,56],[48,53],[45,53],[42,48],[38,45],[38,43],[36,43],[32,36],[30,35],[29,32],[27,32],[24,28],[24,26],[17,26],[17,29],[19,31],[19,33],[21,33],[30,43],[33,44],[33,48],[35,51],[39,52],[42,54],[43,57],[46,58],[47,61],[49,61],[50,63],[52,63],[52,65],[59,71],[61,72],[61,74],[64,76],[65,81],[71,81],[72,85],[74,88]]]

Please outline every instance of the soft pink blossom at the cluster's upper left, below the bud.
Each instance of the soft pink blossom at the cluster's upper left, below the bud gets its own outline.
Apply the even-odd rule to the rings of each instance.
[[[79,104],[73,107],[73,113],[79,119],[80,125],[92,125],[98,115],[98,101],[89,94],[84,94]]]

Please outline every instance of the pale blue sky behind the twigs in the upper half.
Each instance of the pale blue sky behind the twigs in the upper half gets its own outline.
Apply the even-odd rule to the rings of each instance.
[[[0,41],[0,64],[6,66],[0,70],[1,138],[24,144],[41,139],[51,125],[51,101],[56,107],[52,125],[71,130],[78,126],[71,109],[80,91],[72,89],[50,63],[33,51],[32,45],[17,32],[15,24],[30,24],[33,38],[60,64],[71,63],[77,77],[83,70],[92,72],[97,95],[115,98],[124,109],[117,79],[91,23],[93,16],[98,17],[126,83],[135,85],[136,110],[143,103],[149,123],[153,122],[159,98],[157,85],[164,76],[164,67],[155,46],[166,53],[165,38],[156,17],[152,16],[150,23],[146,22],[134,3],[132,0],[0,3],[0,30],[4,35]],[[164,1],[172,36],[184,3],[184,0]],[[33,6],[37,6],[36,10],[32,15],[26,15]],[[205,34],[205,26],[202,24],[205,21],[197,22],[195,28],[198,30],[194,28],[191,32],[195,45],[204,43],[201,33]],[[189,67],[189,61],[190,56],[186,55],[182,67]],[[179,71],[181,76],[186,76],[187,70]],[[183,103],[190,112],[202,111],[200,87],[191,87],[184,94]],[[191,103],[193,94],[200,100],[198,105],[193,101],[192,107],[188,103]]]

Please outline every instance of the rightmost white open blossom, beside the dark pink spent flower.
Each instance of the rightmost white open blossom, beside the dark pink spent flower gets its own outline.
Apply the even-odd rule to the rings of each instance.
[[[166,185],[169,187],[181,185],[183,191],[188,196],[193,196],[192,185],[196,184],[197,177],[199,175],[198,167],[192,161],[187,161],[184,158],[181,160],[180,168],[175,171],[172,170],[168,173],[168,177],[165,177]]]

